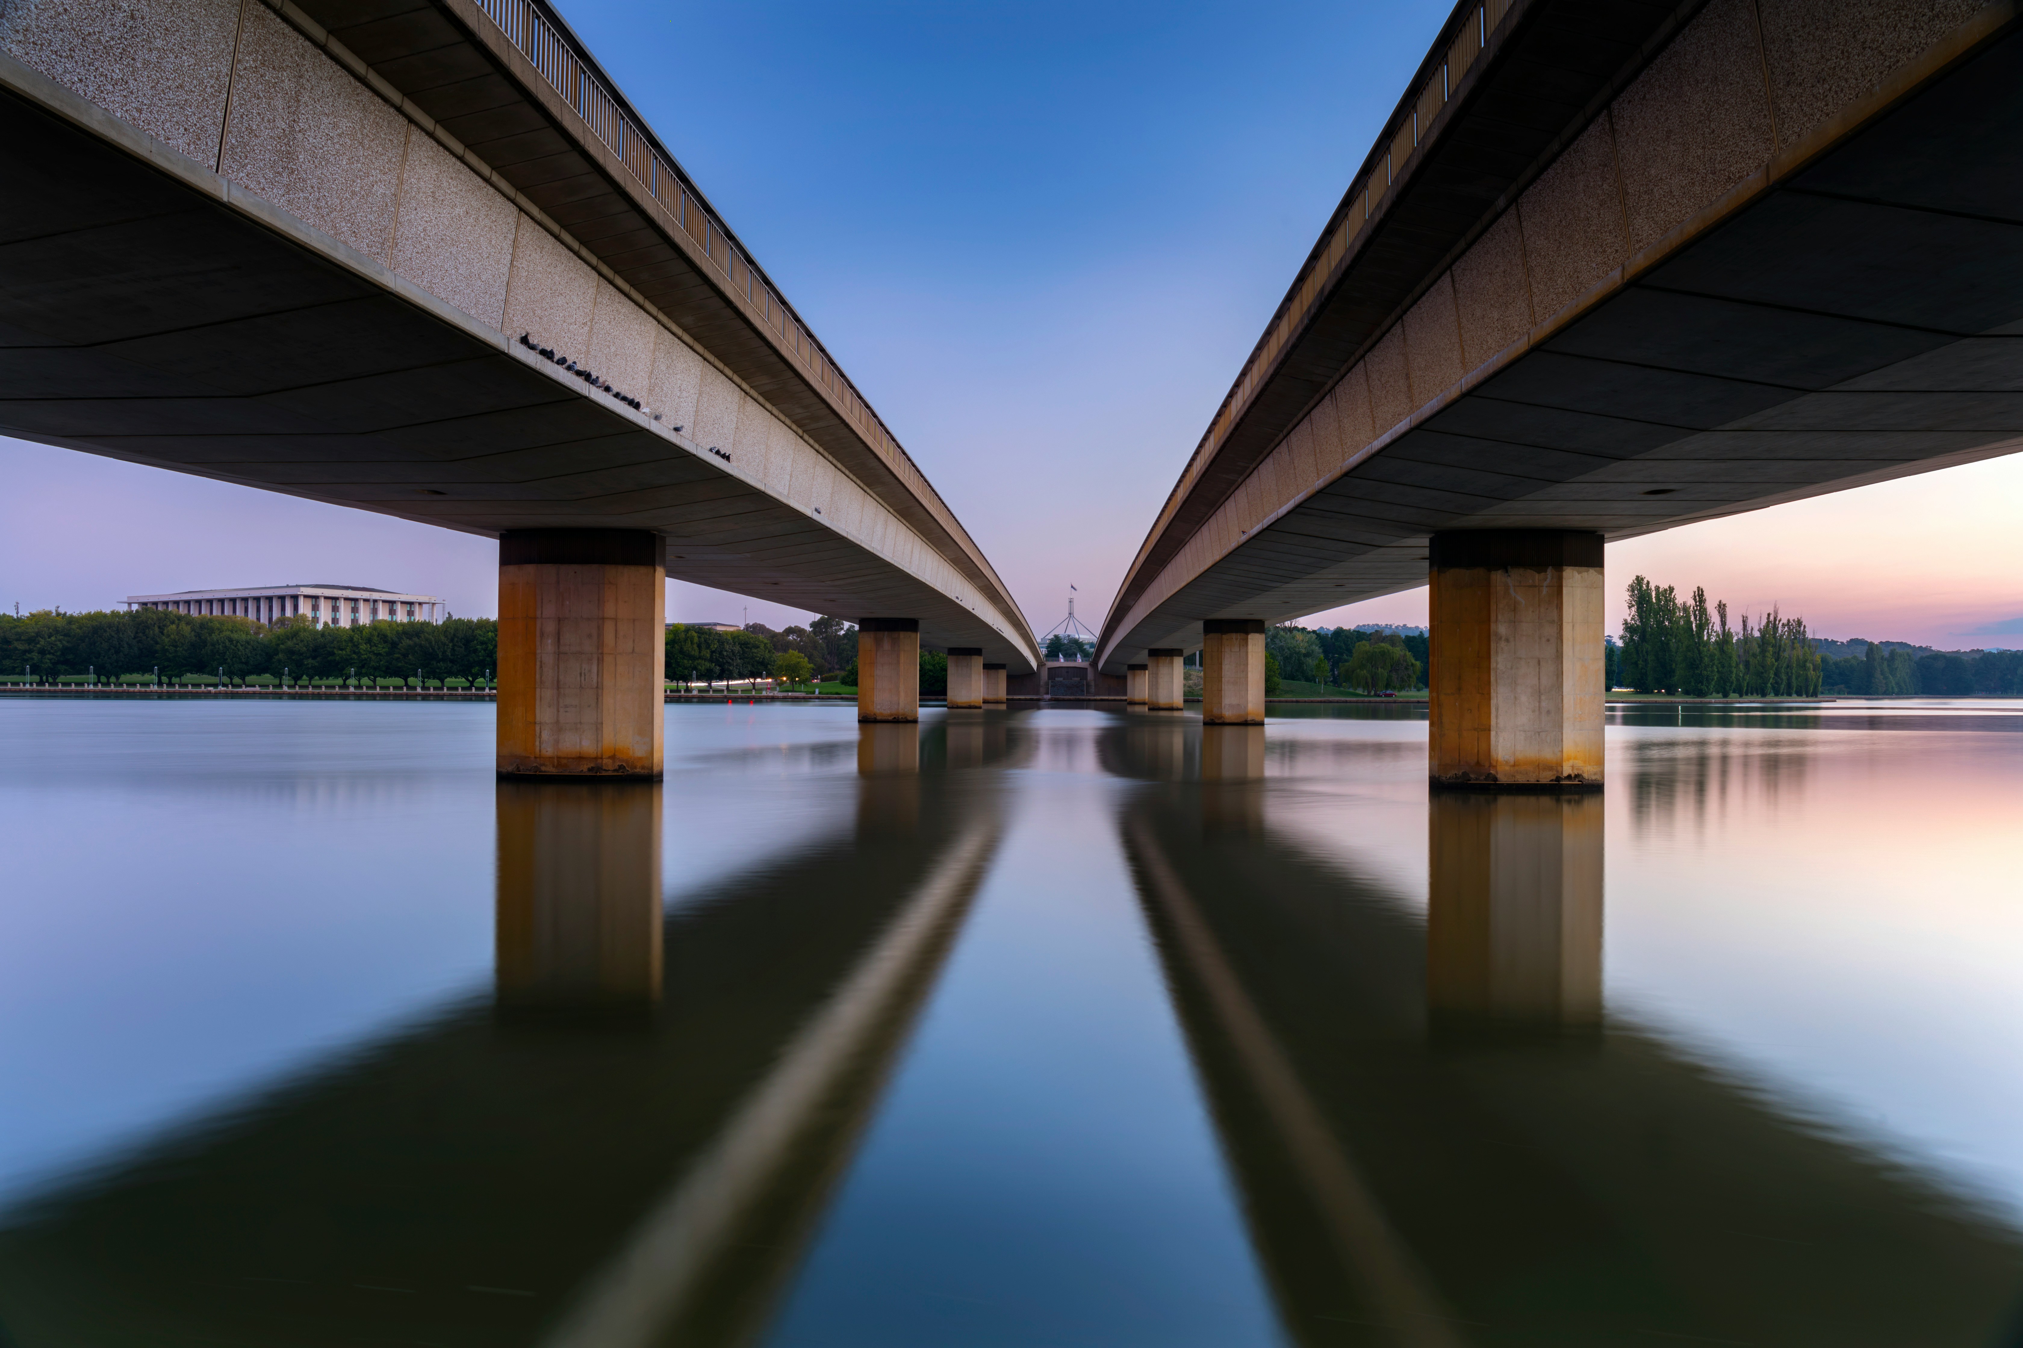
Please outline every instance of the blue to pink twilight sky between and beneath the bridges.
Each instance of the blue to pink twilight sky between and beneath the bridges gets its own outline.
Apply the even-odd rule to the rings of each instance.
[[[562,0],[983,546],[1090,627],[1446,4]],[[0,439],[0,604],[334,580],[492,614],[496,546]],[[1825,637],[2023,647],[2023,459],[1608,550]],[[668,614],[807,614],[674,582]],[[1620,608],[1620,604],[1616,604]],[[1426,592],[1307,624],[1424,622]],[[1610,618],[1610,629],[1616,620]]]

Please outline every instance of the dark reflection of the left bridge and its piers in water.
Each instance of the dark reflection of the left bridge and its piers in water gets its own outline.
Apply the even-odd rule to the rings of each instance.
[[[753,1342],[999,837],[864,746],[854,835],[668,911],[659,784],[502,782],[494,994],[16,1213],[8,1342]]]

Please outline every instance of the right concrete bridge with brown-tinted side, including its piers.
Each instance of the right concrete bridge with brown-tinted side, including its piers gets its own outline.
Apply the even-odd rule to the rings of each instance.
[[[1432,776],[1600,782],[1602,544],[2011,453],[2003,0],[1465,2],[1096,661],[1262,719],[1270,622],[1432,586]],[[1141,667],[1141,669],[1133,669]]]

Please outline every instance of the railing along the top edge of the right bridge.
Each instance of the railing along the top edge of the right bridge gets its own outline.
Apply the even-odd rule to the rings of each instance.
[[[1309,255],[1307,265],[1301,269],[1291,293],[1279,305],[1272,315],[1270,325],[1264,335],[1258,338],[1256,348],[1250,352],[1250,360],[1244,362],[1242,372],[1236,376],[1236,384],[1222,398],[1222,406],[1216,408],[1216,418],[1208,424],[1208,432],[1202,435],[1202,443],[1194,449],[1194,457],[1188,459],[1188,467],[1179,475],[1179,483],[1173,487],[1173,495],[1167,499],[1167,509],[1173,507],[1188,489],[1194,485],[1200,471],[1208,461],[1222,449],[1230,430],[1236,428],[1236,420],[1242,416],[1244,408],[1250,406],[1252,394],[1264,384],[1270,374],[1272,362],[1287,348],[1299,325],[1305,321],[1307,313],[1313,311],[1315,301],[1327,289],[1327,279],[1335,273],[1335,267],[1349,253],[1349,243],[1355,238],[1357,230],[1376,214],[1378,206],[1390,196],[1390,188],[1404,174],[1406,164],[1426,143],[1432,119],[1446,107],[1455,89],[1461,85],[1461,77],[1469,73],[1475,59],[1483,55],[1489,46],[1489,38],[1499,30],[1503,18],[1509,16],[1517,0],[1485,0],[1473,10],[1463,10],[1459,22],[1450,22],[1455,36],[1448,40],[1444,59],[1426,77],[1426,83],[1418,87],[1416,97],[1408,97],[1400,103],[1402,113],[1394,115],[1394,121],[1386,123],[1384,133],[1378,137],[1376,148],[1370,158],[1364,160],[1364,174],[1349,188],[1343,198],[1345,208],[1335,220],[1335,228],[1327,234],[1321,247],[1315,247]]]

